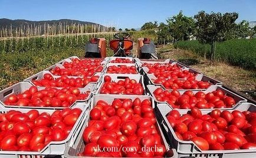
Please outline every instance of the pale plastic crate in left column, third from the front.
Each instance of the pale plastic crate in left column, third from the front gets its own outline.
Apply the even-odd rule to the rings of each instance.
[[[54,78],[54,79],[57,79],[57,78],[60,78],[61,76],[60,75],[53,75],[50,71],[41,71],[40,73],[37,73],[35,75],[32,75],[31,77],[28,77],[26,78],[24,81],[25,82],[29,82],[31,83],[32,85],[35,85],[34,83],[32,83],[32,81],[34,80],[42,80],[44,78],[44,74],[51,74],[51,76]],[[96,81],[96,82],[90,82],[90,84],[96,84],[96,87],[97,85],[101,82],[101,79],[102,79],[102,73],[96,73],[94,75],[99,75],[99,80]],[[83,77],[80,77],[80,76],[67,76],[68,78],[83,78]],[[91,78],[91,77],[87,77],[87,78]],[[36,85],[35,85],[36,86]],[[86,88],[86,87],[83,87],[83,88]]]

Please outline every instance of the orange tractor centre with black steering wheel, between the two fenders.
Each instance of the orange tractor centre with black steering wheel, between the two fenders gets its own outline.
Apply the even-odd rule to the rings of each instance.
[[[114,57],[132,57],[131,50],[133,42],[130,40],[130,35],[125,32],[114,34],[116,40],[109,42],[111,50],[114,51]]]

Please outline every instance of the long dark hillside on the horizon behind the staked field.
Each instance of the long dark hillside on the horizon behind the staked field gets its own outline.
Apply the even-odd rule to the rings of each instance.
[[[29,21],[29,20],[25,20],[25,19],[6,19],[6,18],[2,18],[0,19],[0,28],[4,27],[10,27],[12,25],[12,28],[16,28],[16,27],[21,27],[21,25],[44,25],[44,24],[49,24],[49,25],[53,25],[53,24],[66,24],[66,25],[71,25],[71,24],[82,24],[82,25],[90,25],[90,24],[95,24],[93,22],[87,22],[87,21],[78,21],[78,20],[74,20],[74,19],[58,19],[58,20],[48,20],[48,21]]]

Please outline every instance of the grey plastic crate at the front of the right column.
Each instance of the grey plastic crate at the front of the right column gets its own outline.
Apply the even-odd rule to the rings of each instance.
[[[227,157],[256,157],[256,150],[200,150],[193,141],[183,141],[178,139],[174,130],[170,126],[166,115],[172,110],[167,104],[157,104],[156,117],[163,132],[168,136],[168,143],[175,148],[179,154],[179,157],[194,156],[194,157],[211,157],[211,158],[227,158]],[[238,111],[256,111],[256,107],[251,103],[242,103],[234,110]],[[234,111],[229,110],[229,111]],[[179,110],[180,114],[186,114],[189,110]],[[211,113],[212,110],[202,111],[202,114]]]

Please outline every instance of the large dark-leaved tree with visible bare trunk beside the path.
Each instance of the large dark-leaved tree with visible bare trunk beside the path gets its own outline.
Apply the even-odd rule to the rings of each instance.
[[[202,44],[211,44],[211,62],[214,64],[216,42],[227,40],[226,36],[235,27],[238,14],[236,12],[223,15],[220,12],[207,14],[201,11],[194,18],[196,19],[196,38]]]

